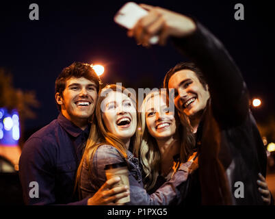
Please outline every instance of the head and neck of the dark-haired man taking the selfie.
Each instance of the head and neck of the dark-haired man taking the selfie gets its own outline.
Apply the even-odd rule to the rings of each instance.
[[[202,73],[195,64],[181,63],[170,70],[164,81],[166,88],[174,88],[174,104],[181,113],[188,116],[196,133],[210,98]]]

